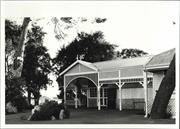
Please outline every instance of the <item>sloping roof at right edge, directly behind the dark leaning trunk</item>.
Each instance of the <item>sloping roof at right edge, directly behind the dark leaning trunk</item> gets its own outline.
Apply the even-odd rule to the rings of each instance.
[[[147,71],[168,69],[174,55],[175,48],[155,55],[145,68]]]

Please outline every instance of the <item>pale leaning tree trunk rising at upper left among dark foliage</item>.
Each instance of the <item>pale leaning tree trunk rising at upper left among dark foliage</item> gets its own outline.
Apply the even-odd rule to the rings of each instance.
[[[21,77],[22,67],[23,67],[23,56],[24,56],[24,48],[25,48],[25,39],[27,35],[27,28],[30,22],[29,17],[25,17],[23,20],[22,30],[21,30],[21,37],[17,49],[15,51],[15,59],[13,63],[13,70],[12,73],[14,78]]]

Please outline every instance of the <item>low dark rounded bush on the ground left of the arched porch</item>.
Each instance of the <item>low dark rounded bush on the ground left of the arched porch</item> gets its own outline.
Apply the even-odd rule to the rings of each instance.
[[[68,115],[68,117],[66,117],[69,118],[70,113],[67,109],[65,109],[63,104],[58,104],[56,101],[46,101],[42,105],[39,105],[39,111],[35,110],[31,115],[30,120],[51,120],[52,117],[59,119],[59,113],[61,109],[65,110],[65,116]]]

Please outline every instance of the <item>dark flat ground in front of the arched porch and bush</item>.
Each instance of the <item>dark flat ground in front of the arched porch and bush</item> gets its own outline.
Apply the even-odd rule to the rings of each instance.
[[[6,124],[175,124],[174,119],[148,119],[140,112],[104,109],[71,109],[70,119],[28,121],[30,111],[6,115]]]

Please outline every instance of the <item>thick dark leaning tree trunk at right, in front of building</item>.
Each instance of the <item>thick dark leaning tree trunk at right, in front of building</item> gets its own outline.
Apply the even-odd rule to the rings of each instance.
[[[170,63],[165,77],[163,78],[160,87],[156,93],[150,117],[152,119],[166,118],[166,109],[175,88],[175,56]]]

